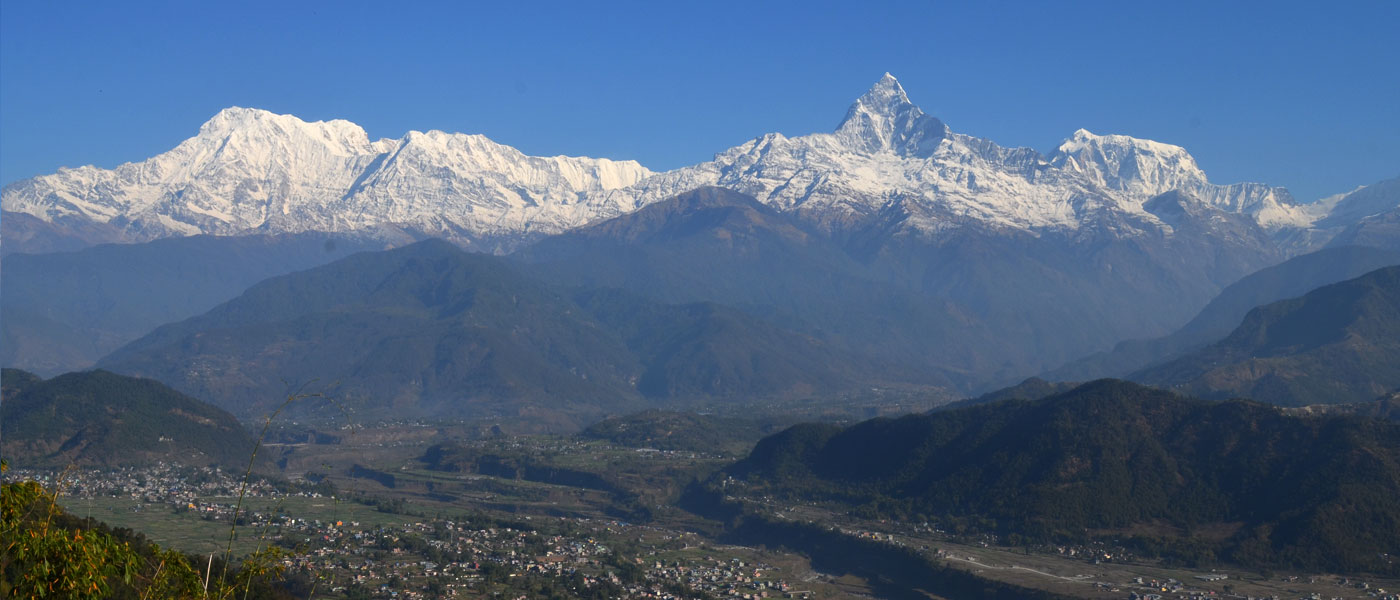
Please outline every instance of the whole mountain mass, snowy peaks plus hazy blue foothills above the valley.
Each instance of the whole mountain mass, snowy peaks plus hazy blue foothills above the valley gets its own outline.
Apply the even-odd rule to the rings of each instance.
[[[6,186],[3,208],[6,365],[102,364],[230,408],[281,379],[428,413],[951,399],[1159,365],[1400,252],[1396,180],[1299,203],[1126,136],[1004,148],[888,74],[833,133],[661,173],[228,109],[148,161]],[[349,256],[428,236],[508,256]],[[81,250],[113,241],[141,243]]]

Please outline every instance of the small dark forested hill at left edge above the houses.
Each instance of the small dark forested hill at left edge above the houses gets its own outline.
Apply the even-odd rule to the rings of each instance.
[[[106,371],[39,379],[4,369],[4,456],[14,467],[155,460],[248,466],[253,441],[228,413],[151,379]]]

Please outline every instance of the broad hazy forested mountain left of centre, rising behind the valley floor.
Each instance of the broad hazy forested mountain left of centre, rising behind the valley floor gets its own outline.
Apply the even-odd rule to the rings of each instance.
[[[829,394],[890,372],[735,309],[570,295],[437,239],[265,280],[98,364],[244,415],[284,382],[319,380],[358,411],[552,427],[655,403]]]

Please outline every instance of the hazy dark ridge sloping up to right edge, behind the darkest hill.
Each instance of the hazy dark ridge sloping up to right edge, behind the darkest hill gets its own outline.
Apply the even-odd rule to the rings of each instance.
[[[1400,389],[1396,357],[1400,266],[1260,306],[1224,340],[1131,378],[1282,406],[1354,403]]]

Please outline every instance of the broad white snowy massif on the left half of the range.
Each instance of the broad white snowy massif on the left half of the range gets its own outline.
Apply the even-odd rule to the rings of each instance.
[[[650,175],[636,161],[529,157],[484,136],[409,131],[370,141],[347,120],[235,106],[150,159],[6,186],[3,207],[49,222],[115,224],[136,241],[391,227],[470,245],[615,215],[630,207],[588,194]]]

